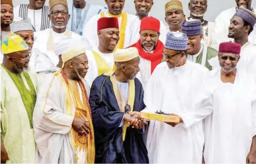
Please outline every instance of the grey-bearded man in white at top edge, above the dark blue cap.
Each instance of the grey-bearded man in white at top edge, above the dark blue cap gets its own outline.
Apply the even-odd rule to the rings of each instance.
[[[187,21],[192,19],[198,19],[202,24],[202,39],[204,43],[211,47],[212,45],[212,32],[215,24],[203,19],[204,13],[207,11],[208,0],[191,0],[189,3],[190,17]]]

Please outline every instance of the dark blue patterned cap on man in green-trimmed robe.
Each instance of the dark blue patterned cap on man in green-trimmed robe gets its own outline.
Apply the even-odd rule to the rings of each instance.
[[[181,25],[182,32],[187,35],[187,37],[197,36],[201,34],[201,21],[190,19],[187,22],[183,22]]]

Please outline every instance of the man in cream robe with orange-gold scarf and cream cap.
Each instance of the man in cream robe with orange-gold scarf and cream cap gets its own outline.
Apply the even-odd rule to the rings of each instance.
[[[33,113],[36,163],[94,163],[85,53],[83,48],[62,53],[62,69],[41,86]]]

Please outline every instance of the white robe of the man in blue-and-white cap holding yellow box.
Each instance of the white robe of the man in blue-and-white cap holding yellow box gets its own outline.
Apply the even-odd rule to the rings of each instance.
[[[169,69],[166,62],[159,64],[145,90],[144,111],[182,115],[193,110],[207,72],[207,68],[188,60],[175,69]],[[185,129],[182,124],[172,127],[151,120],[146,143],[149,162],[201,163],[203,141],[202,122]]]

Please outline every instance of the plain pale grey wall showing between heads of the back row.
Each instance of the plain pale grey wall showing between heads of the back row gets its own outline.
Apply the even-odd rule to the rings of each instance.
[[[13,5],[17,6],[19,4],[28,4],[29,0],[12,0]],[[67,1],[72,1],[72,0],[67,0]],[[190,0],[180,0],[183,5],[183,10],[184,13],[186,14],[186,17],[189,16],[190,11],[188,8]],[[91,4],[99,4],[104,7],[107,7],[105,0],[86,0],[86,2],[89,2]],[[155,3],[153,7],[151,8],[151,11],[149,13],[149,16],[154,16],[160,21],[164,21],[164,5],[169,2],[169,0],[153,0]],[[48,0],[46,0],[46,5],[48,5]],[[206,14],[204,15],[204,19],[207,21],[214,22],[215,17],[221,12],[224,11],[228,8],[236,6],[235,0],[208,0],[208,9]],[[252,6],[256,6],[256,0],[252,0]],[[135,9],[134,9],[134,3],[133,0],[126,0],[125,2],[125,12],[128,12],[130,14],[135,14]]]

